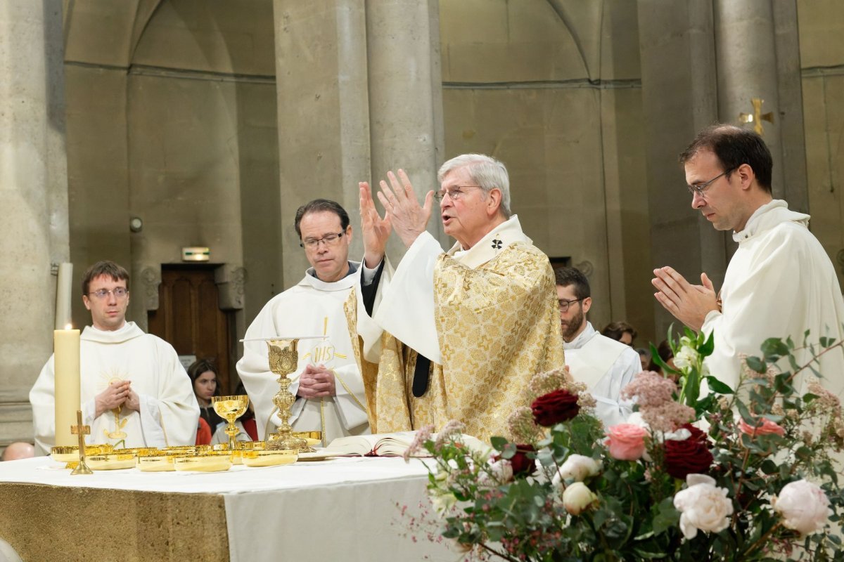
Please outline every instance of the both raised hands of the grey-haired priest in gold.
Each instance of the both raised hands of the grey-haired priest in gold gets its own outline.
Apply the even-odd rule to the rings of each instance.
[[[398,178],[392,171],[387,172],[387,179],[390,180],[389,185],[381,179],[381,190],[377,192],[378,201],[385,210],[383,218],[372,201],[370,185],[365,181],[359,184],[360,227],[363,230],[366,266],[370,268],[381,263],[391,229],[396,231],[407,248],[419,234],[425,232],[434,202],[434,191],[431,190],[425,195],[425,204],[419,206],[414,187],[403,169],[398,170]]]

